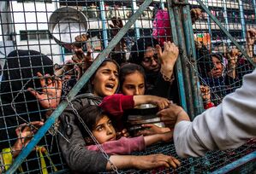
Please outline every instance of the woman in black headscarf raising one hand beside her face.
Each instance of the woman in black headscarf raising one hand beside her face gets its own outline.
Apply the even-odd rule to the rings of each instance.
[[[179,49],[164,43],[164,51],[154,38],[139,38],[132,47],[129,62],[140,65],[146,73],[146,94],[162,96],[179,103],[174,65]]]

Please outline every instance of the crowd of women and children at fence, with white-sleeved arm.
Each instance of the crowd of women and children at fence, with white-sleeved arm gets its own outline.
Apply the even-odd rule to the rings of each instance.
[[[193,13],[197,16],[199,10]],[[113,24],[112,28],[115,28],[116,23]],[[247,30],[247,54],[251,57],[255,31],[253,28]],[[63,66],[53,66],[49,57],[33,50],[15,50],[8,55],[1,83],[0,170],[8,170],[33,134],[44,125],[44,120],[51,116],[62,100],[66,100],[69,90],[92,66],[92,51],[87,50],[85,54],[82,49],[87,36],[75,39],[81,44],[73,45],[74,56]],[[57,152],[59,147],[70,171],[96,173],[115,168],[146,170],[181,165],[170,155],[131,154],[144,151],[156,142],[174,139],[177,154],[200,156],[207,150],[236,148],[255,137],[256,91],[253,84],[256,74],[253,67],[238,49],[219,54],[206,49],[204,44],[196,45],[199,75],[202,77],[200,90],[207,110],[193,122],[178,106],[175,68],[178,47],[170,41],[158,43],[156,38],[139,38],[131,49],[128,62],[124,62],[124,56],[120,55],[122,57],[117,63],[115,54],[110,54],[103,61],[79,94],[68,103],[50,134],[39,142],[39,147],[51,144],[51,152]],[[117,46],[118,50],[125,47],[124,44]],[[235,91],[241,85],[235,82],[245,73],[242,68],[253,73],[247,75],[241,89]],[[223,96],[226,97],[220,101]],[[157,115],[165,127],[141,125],[146,129],[130,137],[125,124],[126,112],[148,103],[158,107]],[[245,119],[241,119],[239,114]],[[219,125],[223,131],[217,130]],[[57,142],[53,143],[51,136],[56,134]],[[35,152],[38,151],[50,151],[50,148],[35,148]],[[27,162],[33,165],[23,164],[20,170],[42,168],[35,155],[32,153],[31,160]],[[51,155],[51,165],[57,162],[57,155]],[[50,168],[56,170],[56,167]]]

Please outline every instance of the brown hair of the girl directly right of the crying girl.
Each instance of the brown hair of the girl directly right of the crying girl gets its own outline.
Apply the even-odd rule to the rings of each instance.
[[[135,72],[141,73],[146,81],[146,75],[145,75],[143,67],[141,67],[140,65],[134,64],[134,63],[127,63],[127,64],[124,64],[120,68],[119,80],[120,80],[121,88],[122,88],[122,84],[123,84],[126,76],[128,76],[129,74],[135,73]]]

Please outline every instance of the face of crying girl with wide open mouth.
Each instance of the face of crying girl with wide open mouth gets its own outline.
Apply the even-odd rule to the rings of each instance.
[[[96,96],[111,96],[115,94],[118,83],[116,64],[107,62],[103,67],[98,68],[92,80],[93,94]]]

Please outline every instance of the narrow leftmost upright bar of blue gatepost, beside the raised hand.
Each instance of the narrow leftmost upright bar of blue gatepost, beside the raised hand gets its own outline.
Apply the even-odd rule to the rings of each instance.
[[[170,26],[171,27],[171,34],[173,38],[173,42],[178,45],[178,36],[176,32],[176,21],[174,20],[174,12],[171,6],[170,0],[168,0],[168,11],[169,11],[169,16],[170,16]],[[178,84],[179,84],[179,93],[180,93],[180,99],[181,99],[181,104],[182,107],[185,111],[188,111],[187,107],[187,102],[186,102],[186,95],[185,95],[185,85],[184,85],[184,78],[183,78],[183,73],[182,73],[182,61],[181,57],[179,55],[179,58],[176,61],[176,73],[177,73],[177,78],[178,78]]]

